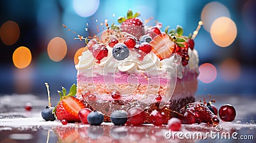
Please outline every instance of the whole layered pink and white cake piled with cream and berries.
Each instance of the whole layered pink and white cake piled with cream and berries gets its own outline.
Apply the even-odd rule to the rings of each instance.
[[[129,10],[118,19],[120,26],[88,40],[76,65],[76,95],[86,107],[102,112],[105,121],[115,110],[141,107],[145,122],[157,110],[167,123],[171,112],[166,108],[179,110],[195,101],[198,53],[182,27],[163,32],[159,26],[143,26],[138,16]]]

